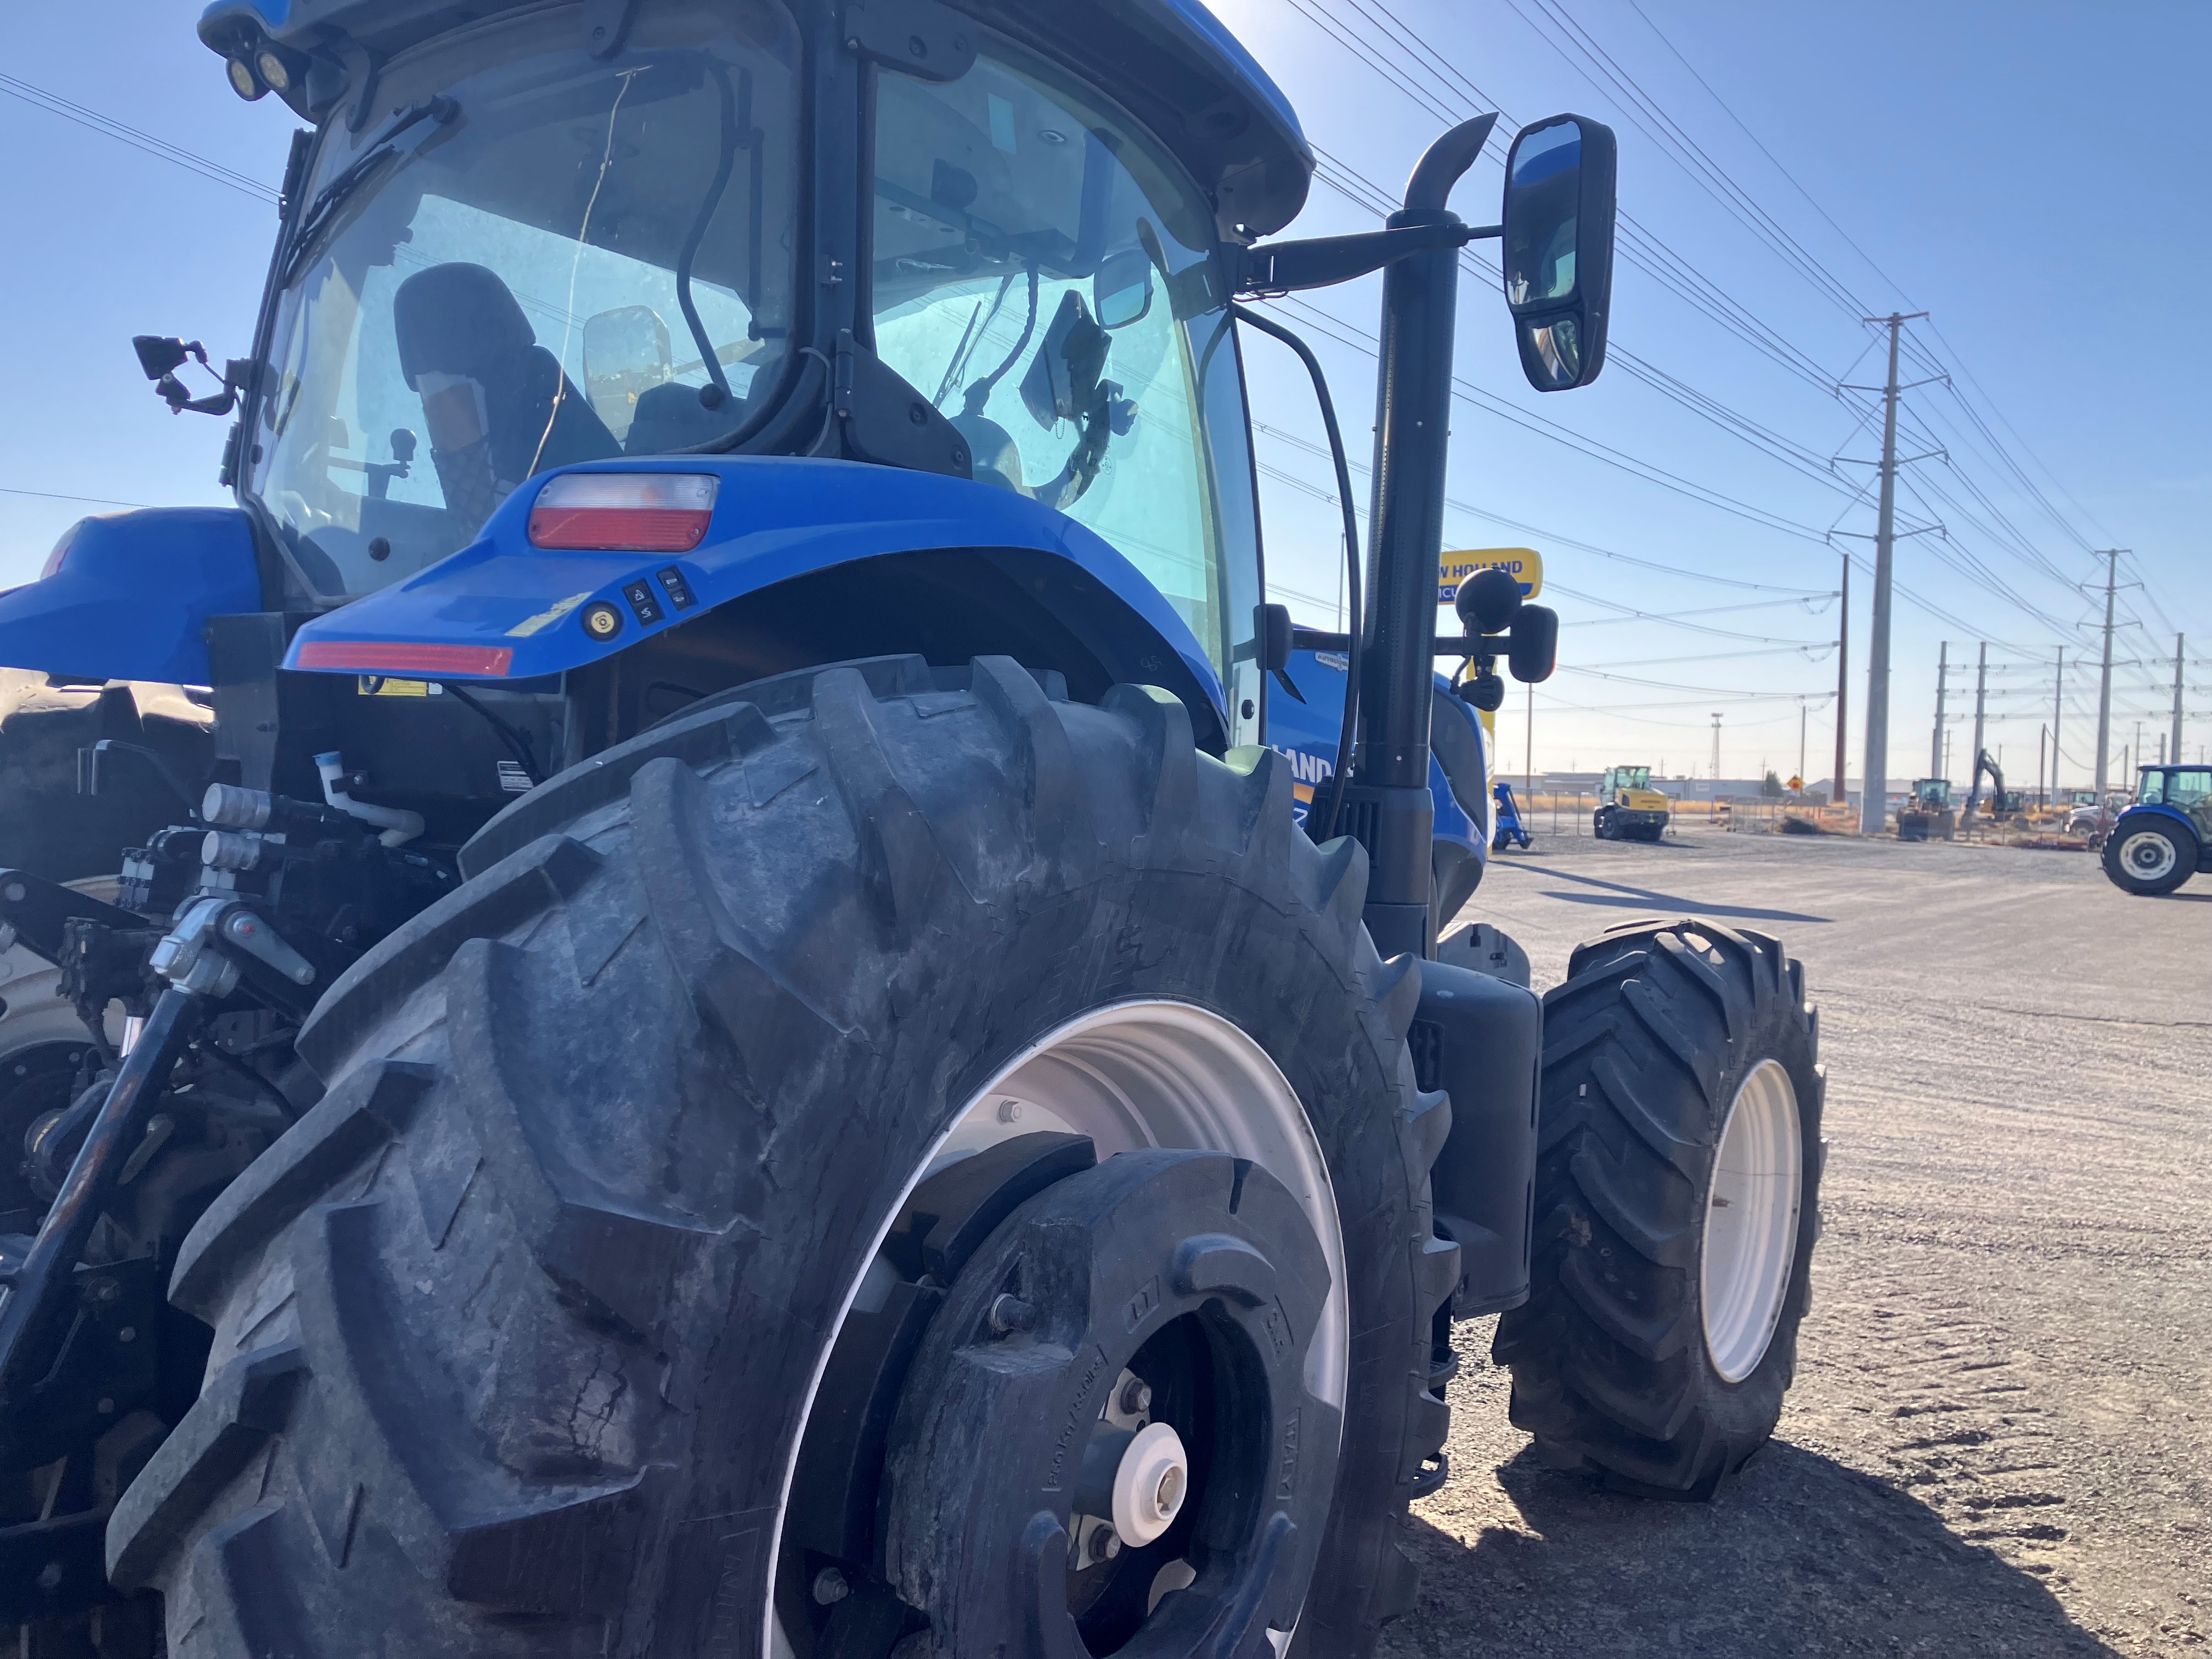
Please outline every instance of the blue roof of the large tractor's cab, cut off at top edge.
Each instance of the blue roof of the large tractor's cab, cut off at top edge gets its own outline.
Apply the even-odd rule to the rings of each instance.
[[[226,58],[263,40],[376,58],[520,0],[215,0],[199,38]],[[602,0],[604,4],[604,0]],[[1217,217],[1267,237],[1305,206],[1314,153],[1290,100],[1201,0],[951,0],[1093,77],[1214,192]]]

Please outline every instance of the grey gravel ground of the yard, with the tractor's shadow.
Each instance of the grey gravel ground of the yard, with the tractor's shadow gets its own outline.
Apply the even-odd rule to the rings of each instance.
[[[1544,1469],[1460,1325],[1453,1480],[1385,1652],[2197,1655],[2212,1646],[2212,878],[2088,854],[1537,838],[1493,920],[1555,984],[1639,916],[1772,931],[1820,1006],[1801,1365],[1714,1504]]]

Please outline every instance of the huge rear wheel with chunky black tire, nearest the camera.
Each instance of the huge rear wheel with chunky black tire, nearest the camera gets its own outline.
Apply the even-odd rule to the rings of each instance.
[[[1018,1615],[1037,1650],[1082,1655],[1060,1453],[1099,1438],[1117,1367],[1144,1376],[1121,1347],[1175,1316],[1221,1376],[1303,1378],[1310,1402],[1248,1413],[1256,1462],[1190,1449],[1210,1544],[1186,1540],[1188,1590],[1155,1621],[1170,1579],[1115,1590],[1104,1650],[1146,1621],[1146,1655],[1208,1630],[1206,1652],[1272,1659],[1292,1626],[1301,1652],[1367,1652],[1411,1606],[1405,1506],[1442,1467],[1431,1332],[1458,1250],[1427,1170],[1449,1117],[1402,1040],[1418,973],[1360,927],[1365,854],[1307,843],[1290,783],[1267,750],[1197,754],[1164,692],[1088,708],[1009,659],[880,659],[714,699],[524,796],[471,843],[471,880],[325,998],[299,1046],[330,1093],[186,1241],[173,1296],[215,1354],[108,1528],[115,1582],[161,1588],[177,1659],[354,1655],[367,1632],[422,1659],[953,1659],[947,1628]],[[1057,1084],[1020,1082],[1055,1055]],[[1186,1102],[1186,1128],[1157,1102]],[[949,1155],[1055,1124],[1099,1166],[989,1239],[916,1212]],[[1051,1172],[1071,1139],[1013,1152]],[[1214,1161],[1115,1157],[1146,1141]],[[1159,1217],[1203,1239],[1155,1239]],[[1068,1228],[1113,1250],[1066,1254]],[[1340,1252],[1318,1321],[1301,1228]],[[1110,1285],[1146,1252],[1168,1265],[1133,1294],[1068,1290],[1079,1259],[1113,1256]],[[1279,1301],[1254,1290],[1267,1252]],[[894,1398],[900,1376],[964,1391],[916,1383],[885,1420],[841,1332],[938,1305],[958,1329],[869,1363],[911,1360]],[[1095,1343],[1064,1343],[1086,1305]],[[1051,1411],[975,1405],[1004,1371],[962,1369],[964,1345],[1000,1340],[1064,1367]],[[1276,1398],[1177,1376],[1221,1407],[1206,1420]],[[1006,1438],[949,1458],[987,1420]],[[792,1520],[794,1471],[869,1444],[894,1557],[876,1537],[830,1559]],[[1208,1455],[1241,1471],[1234,1502],[1208,1509]],[[933,1526],[927,1482],[953,1478],[962,1522]],[[865,1535],[878,1509],[841,1513]]]

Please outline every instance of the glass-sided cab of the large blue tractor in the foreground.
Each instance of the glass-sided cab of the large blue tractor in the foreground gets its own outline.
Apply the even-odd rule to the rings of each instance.
[[[1296,212],[1310,161],[1241,51],[1161,11],[1161,62],[1203,117],[1164,119],[1126,53],[1088,51],[1097,20],[1040,42],[1026,7],[989,20],[1004,29],[807,0],[518,7],[458,29],[358,0],[212,7],[201,35],[232,80],[319,124],[294,146],[261,338],[232,365],[230,471],[281,608],[405,586],[498,540],[498,509],[560,469],[622,480],[562,498],[586,542],[650,522],[679,555],[730,482],[675,478],[670,458],[883,462],[1108,542],[1188,635],[1188,690],[1219,681],[1217,741],[1254,734],[1259,529],[1221,248]],[[343,73],[347,53],[374,73]],[[825,577],[776,641],[684,617],[648,675],[664,690],[608,734],[794,666],[807,617],[938,655],[916,630],[975,630],[942,615],[951,586],[1040,655],[1075,626],[1053,580],[1006,593],[978,564]],[[639,577],[648,615],[617,599],[608,641],[686,608]]]

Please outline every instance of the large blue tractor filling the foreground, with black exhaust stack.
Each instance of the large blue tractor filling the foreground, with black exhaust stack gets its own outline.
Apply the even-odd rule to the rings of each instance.
[[[199,35],[303,122],[221,387],[137,341],[237,504],[0,595],[0,664],[208,714],[84,745],[150,825],[111,869],[0,869],[27,1650],[1365,1655],[1455,1314],[1557,1462],[1710,1493],[1767,1438],[1796,962],[1644,922],[1540,1004],[1436,942],[1433,768],[1475,869],[1484,792],[1433,664],[1555,644],[1482,584],[1436,630],[1460,250],[1588,383],[1604,126],[1522,128],[1495,226],[1484,117],[1283,241],[1312,150],[1197,0]],[[1301,830],[1243,352],[1329,405],[1243,299],[1369,272]]]

